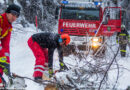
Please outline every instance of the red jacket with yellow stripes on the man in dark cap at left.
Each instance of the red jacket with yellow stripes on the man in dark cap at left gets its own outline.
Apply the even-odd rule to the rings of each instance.
[[[10,37],[11,37],[12,25],[8,22],[6,13],[0,16],[0,41],[2,51],[0,55],[7,56],[7,62],[10,63]],[[0,56],[1,57],[1,56]]]

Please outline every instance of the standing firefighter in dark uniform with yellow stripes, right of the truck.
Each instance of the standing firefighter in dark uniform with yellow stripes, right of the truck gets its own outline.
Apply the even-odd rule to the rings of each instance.
[[[130,36],[125,29],[125,25],[121,25],[121,32],[117,33],[116,41],[119,43],[121,57],[126,56],[126,46],[130,40]]]

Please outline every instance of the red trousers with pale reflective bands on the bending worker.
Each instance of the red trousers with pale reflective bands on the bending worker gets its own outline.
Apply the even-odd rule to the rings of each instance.
[[[36,58],[33,77],[42,77],[43,72],[48,70],[48,50],[47,48],[42,48],[37,42],[34,42],[32,37],[28,40],[28,46]]]

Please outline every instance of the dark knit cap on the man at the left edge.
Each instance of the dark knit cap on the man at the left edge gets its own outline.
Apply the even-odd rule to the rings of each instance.
[[[9,7],[6,9],[6,13],[12,13],[15,14],[16,16],[20,15],[20,7],[16,4],[11,4]]]

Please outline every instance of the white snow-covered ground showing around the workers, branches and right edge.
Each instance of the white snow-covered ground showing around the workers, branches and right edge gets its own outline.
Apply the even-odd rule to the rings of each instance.
[[[23,30],[23,31],[20,31]],[[33,78],[33,68],[35,64],[35,57],[27,45],[28,38],[37,33],[34,26],[30,26],[28,28],[23,28],[21,25],[17,25],[14,28],[11,44],[10,44],[10,52],[11,52],[11,72],[16,73],[21,76],[27,76]],[[20,33],[19,33],[20,32]],[[130,49],[127,49],[130,52]],[[120,57],[120,55],[118,55]],[[54,66],[58,68],[58,54],[55,51],[54,54]],[[64,61],[71,65],[76,64],[75,57],[70,55],[69,57],[64,57]],[[130,85],[130,57],[129,58],[118,58],[118,62],[120,67],[124,67],[125,69],[121,69],[122,75],[119,78],[119,90],[126,89],[127,86]],[[82,64],[80,64],[82,65]],[[117,73],[117,70],[110,71],[110,81],[116,80],[114,77]],[[5,76],[6,77],[6,76]],[[43,90],[44,86],[39,85],[33,81],[26,80],[27,88],[26,90]]]

